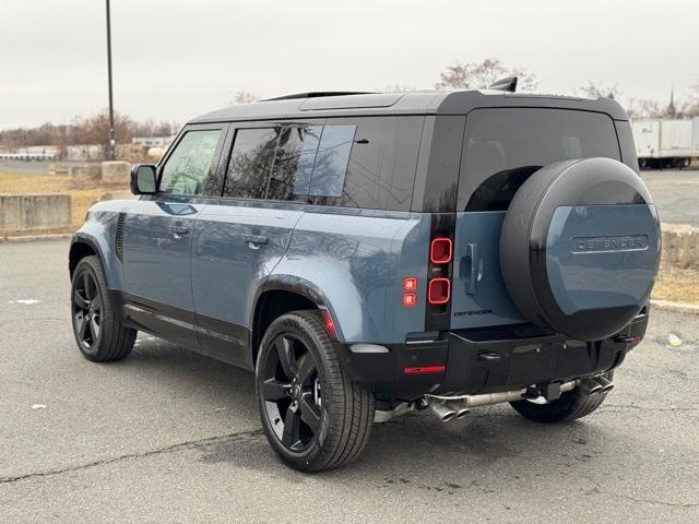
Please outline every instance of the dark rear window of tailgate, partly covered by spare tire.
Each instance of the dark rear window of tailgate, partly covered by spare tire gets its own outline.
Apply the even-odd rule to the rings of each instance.
[[[530,175],[554,162],[620,160],[608,116],[545,108],[471,111],[462,155],[460,211],[506,211]]]

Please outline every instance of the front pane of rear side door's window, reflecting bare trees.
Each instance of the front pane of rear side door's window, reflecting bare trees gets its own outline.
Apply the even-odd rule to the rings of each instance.
[[[279,138],[279,128],[236,131],[224,195],[241,199],[264,198]]]

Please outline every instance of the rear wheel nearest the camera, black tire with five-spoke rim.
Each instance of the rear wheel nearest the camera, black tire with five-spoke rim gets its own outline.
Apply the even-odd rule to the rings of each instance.
[[[369,439],[374,394],[340,366],[319,311],[272,322],[260,345],[256,394],[270,445],[295,469],[343,466]]]

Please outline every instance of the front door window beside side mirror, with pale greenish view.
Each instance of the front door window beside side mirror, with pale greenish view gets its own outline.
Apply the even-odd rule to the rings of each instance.
[[[220,129],[188,131],[163,167],[159,190],[173,194],[203,194],[213,172],[212,163],[221,133]]]

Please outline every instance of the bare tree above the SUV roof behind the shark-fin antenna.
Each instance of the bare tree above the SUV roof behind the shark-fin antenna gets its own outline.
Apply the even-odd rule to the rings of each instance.
[[[486,58],[482,62],[457,62],[439,73],[438,90],[485,90],[503,76],[517,76],[522,91],[534,91],[536,75],[522,68],[505,66],[499,58]]]

